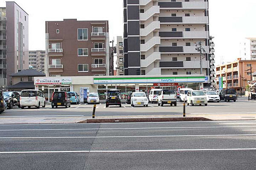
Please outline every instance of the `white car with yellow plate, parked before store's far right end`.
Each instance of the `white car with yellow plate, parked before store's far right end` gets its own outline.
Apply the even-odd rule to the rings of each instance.
[[[188,91],[187,105],[205,105],[207,106],[207,97],[204,91]]]

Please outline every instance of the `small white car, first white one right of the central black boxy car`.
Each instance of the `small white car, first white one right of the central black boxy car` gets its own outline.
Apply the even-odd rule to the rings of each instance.
[[[133,92],[131,95],[131,106],[144,105],[148,107],[148,98],[144,92]]]

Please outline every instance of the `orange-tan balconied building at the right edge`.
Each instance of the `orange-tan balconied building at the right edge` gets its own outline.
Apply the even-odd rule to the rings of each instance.
[[[235,88],[245,91],[248,81],[253,79],[252,73],[256,71],[256,60],[242,60],[216,66],[216,88]],[[241,82],[240,82],[241,81]]]

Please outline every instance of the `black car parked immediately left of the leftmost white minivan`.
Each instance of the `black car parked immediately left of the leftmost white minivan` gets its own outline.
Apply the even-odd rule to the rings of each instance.
[[[20,107],[20,94],[16,91],[3,92],[3,99],[9,109],[12,109],[13,106]]]

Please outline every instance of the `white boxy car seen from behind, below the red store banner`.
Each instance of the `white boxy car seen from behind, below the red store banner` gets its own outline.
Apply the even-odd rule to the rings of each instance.
[[[162,90],[158,96],[158,106],[170,104],[177,106],[177,95],[175,90]]]

